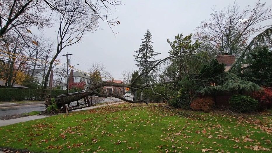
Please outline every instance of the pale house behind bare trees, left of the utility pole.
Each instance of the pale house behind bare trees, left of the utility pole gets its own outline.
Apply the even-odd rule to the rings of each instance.
[[[33,69],[27,71],[26,73],[29,75],[32,75]],[[53,72],[53,71],[51,71]],[[45,75],[47,73],[47,70],[44,71],[44,69],[35,69],[34,70],[34,74],[33,77],[36,78],[36,83],[39,85],[42,85],[43,79],[45,78]],[[43,75],[44,74],[44,75]],[[51,88],[55,88],[57,86],[57,83],[54,81],[53,79],[53,74],[50,74],[50,76],[52,75],[52,85]],[[47,81],[47,87],[50,88],[50,79],[51,77],[49,76],[48,81]]]

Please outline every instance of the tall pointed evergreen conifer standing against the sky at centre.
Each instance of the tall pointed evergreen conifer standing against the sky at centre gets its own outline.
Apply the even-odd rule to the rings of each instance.
[[[149,29],[147,29],[147,33],[144,35],[144,39],[142,39],[142,43],[140,45],[139,50],[135,51],[135,61],[137,62],[137,66],[139,67],[139,72],[143,73],[151,69],[151,67],[158,62],[155,57],[161,53],[153,51],[153,46],[151,45],[153,41],[151,41],[151,33]],[[142,80],[144,84],[154,82],[156,69],[151,71],[150,73],[144,74]]]

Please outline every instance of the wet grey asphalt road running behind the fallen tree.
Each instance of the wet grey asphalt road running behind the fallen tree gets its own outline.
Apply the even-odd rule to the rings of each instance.
[[[126,97],[129,100],[133,100],[133,96],[131,97]],[[98,99],[98,100],[93,100],[93,103],[102,103],[102,102],[115,102],[115,101],[119,101],[120,99],[118,98],[113,98],[113,97],[109,97],[109,98],[104,98],[102,99]],[[83,100],[79,101],[79,103],[84,103]],[[76,102],[72,102],[70,104],[70,106],[76,105]],[[0,116],[6,116],[6,115],[13,115],[13,114],[22,114],[22,113],[29,113],[32,111],[44,111],[45,110],[45,105],[43,105],[43,102],[37,102],[35,104],[31,104],[31,105],[9,105],[9,106],[1,106],[0,105]]]

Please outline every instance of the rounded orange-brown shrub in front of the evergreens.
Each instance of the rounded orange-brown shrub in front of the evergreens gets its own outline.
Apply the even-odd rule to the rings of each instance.
[[[214,100],[210,97],[208,98],[197,98],[191,103],[191,108],[193,110],[203,110],[204,112],[209,112],[212,109]]]

